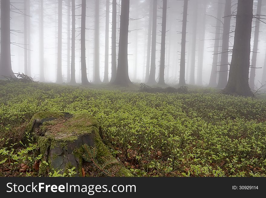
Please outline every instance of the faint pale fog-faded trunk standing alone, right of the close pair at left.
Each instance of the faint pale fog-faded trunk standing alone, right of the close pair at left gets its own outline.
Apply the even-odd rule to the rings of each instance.
[[[39,40],[39,62],[40,62],[40,81],[44,82],[44,0],[41,0],[40,8],[40,40]]]

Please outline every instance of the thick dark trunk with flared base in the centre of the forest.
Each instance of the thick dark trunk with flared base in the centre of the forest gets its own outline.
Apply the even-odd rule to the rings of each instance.
[[[128,24],[129,0],[122,0],[120,33],[118,44],[118,67],[114,84],[126,86],[131,84],[128,76]]]

